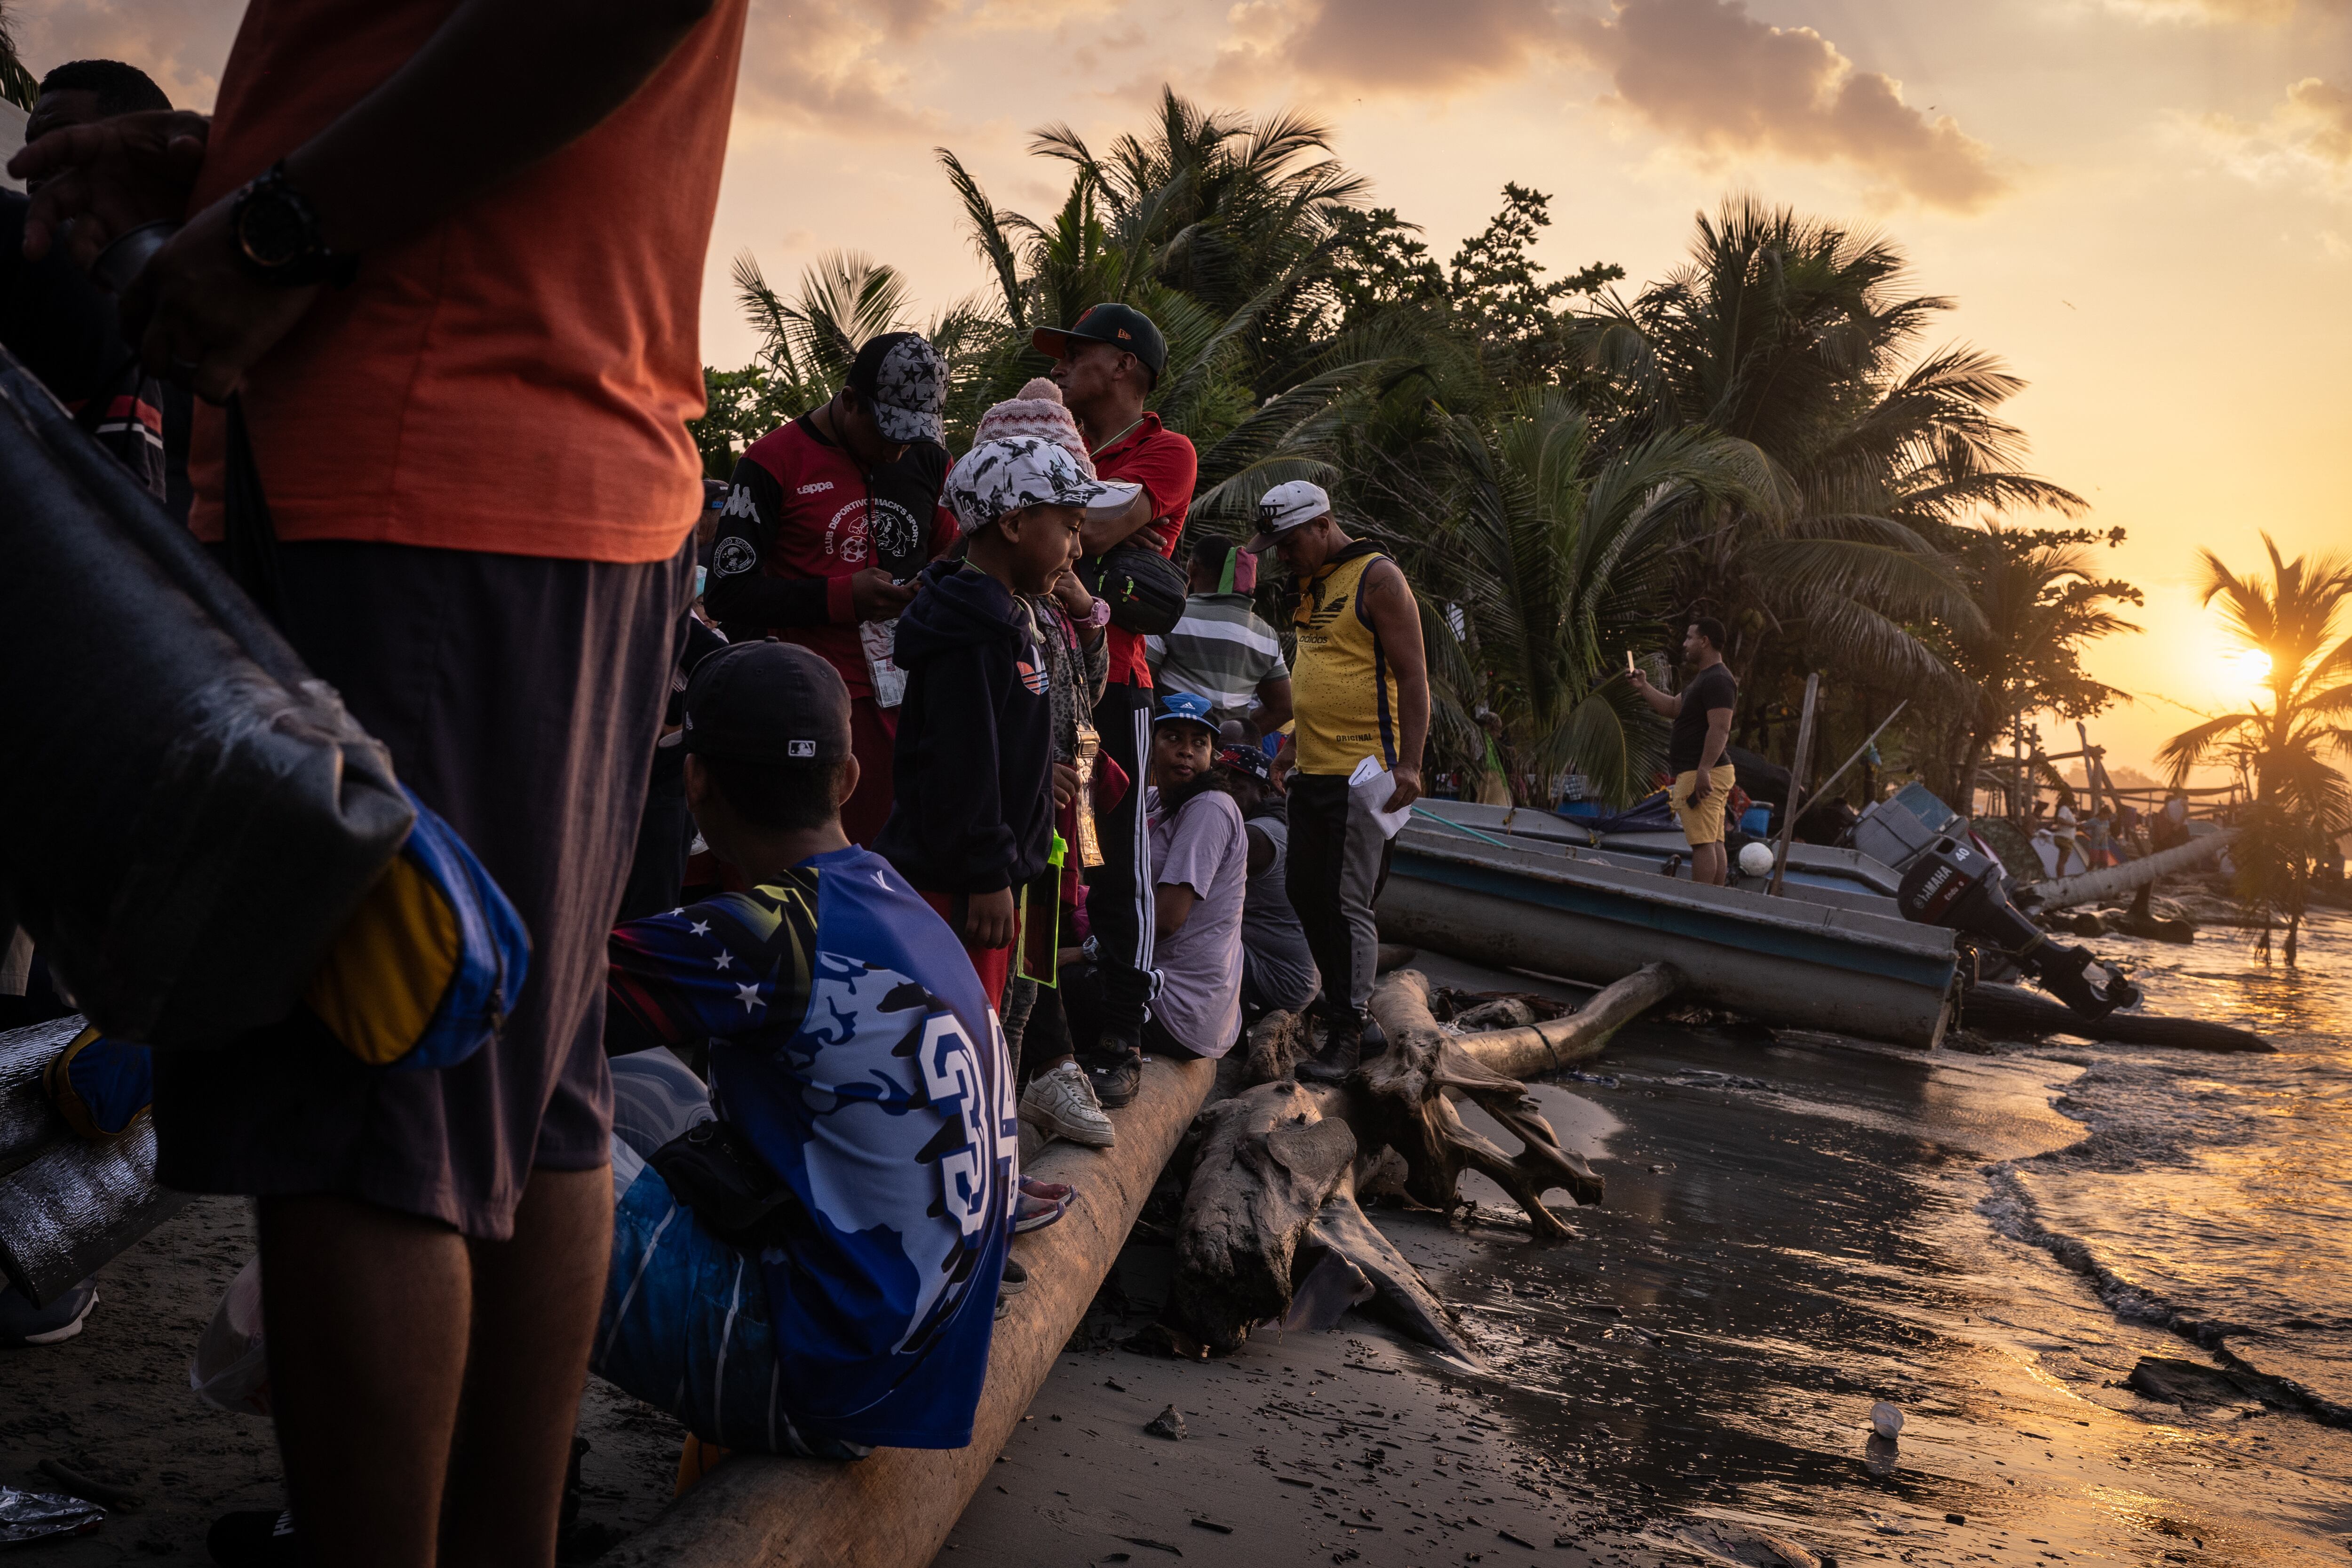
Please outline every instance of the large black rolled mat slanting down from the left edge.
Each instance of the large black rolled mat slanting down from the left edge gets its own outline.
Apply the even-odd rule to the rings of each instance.
[[[282,1018],[409,835],[390,755],[5,350],[0,496],[16,919],[115,1039]]]

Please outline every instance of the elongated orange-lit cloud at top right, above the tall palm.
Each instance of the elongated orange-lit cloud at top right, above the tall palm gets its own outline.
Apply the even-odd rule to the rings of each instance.
[[[1957,212],[2009,188],[1950,115],[1929,120],[1891,75],[1856,68],[1813,28],[1757,21],[1745,0],[1616,0],[1578,38],[1616,103],[1686,146],[1844,162]]]

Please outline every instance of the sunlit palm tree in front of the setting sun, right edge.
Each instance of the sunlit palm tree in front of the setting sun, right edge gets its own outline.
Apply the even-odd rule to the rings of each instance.
[[[2223,762],[2253,783],[2253,806],[2230,856],[2239,891],[2265,914],[2286,917],[2286,961],[2296,961],[2305,891],[2312,867],[2333,853],[2336,835],[2352,827],[2352,785],[2328,755],[2352,755],[2352,637],[2336,639],[2336,621],[2352,604],[2352,562],[2340,555],[2281,559],[2263,534],[2270,581],[2239,576],[2211,550],[2199,550],[2199,602],[2220,599],[2223,623],[2246,649],[2270,661],[2263,677],[2270,703],[2256,701],[2185,729],[2157,752],[2171,783],[2190,769]],[[2333,642],[2331,642],[2333,639]],[[2270,952],[2263,931],[2260,952]]]

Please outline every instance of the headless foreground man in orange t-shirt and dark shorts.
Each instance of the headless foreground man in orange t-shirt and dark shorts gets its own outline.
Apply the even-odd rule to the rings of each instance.
[[[292,1561],[289,1530],[339,1568],[555,1561],[612,1237],[604,933],[691,576],[743,14],[252,0],[212,120],[12,160],[45,181],[28,256],[68,219],[82,263],[183,219],[125,331],[238,395],[287,637],[532,933],[459,1067],[362,1067],[306,1011],[158,1053],[160,1178],[259,1199],[292,1516],[223,1521],[219,1561]],[[223,451],[205,407],[191,527],[247,541]]]

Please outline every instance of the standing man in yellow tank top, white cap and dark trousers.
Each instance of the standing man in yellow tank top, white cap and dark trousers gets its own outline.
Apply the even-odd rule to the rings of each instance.
[[[1322,971],[1324,1048],[1298,1077],[1345,1077],[1369,1046],[1364,1004],[1381,954],[1371,914],[1388,879],[1388,835],[1374,818],[1421,797],[1421,745],[1430,733],[1430,670],[1421,609],[1397,562],[1371,541],[1348,538],[1319,484],[1291,480],[1258,503],[1249,550],[1272,550],[1298,581],[1291,630],[1291,712],[1296,733],[1275,757],[1289,795],[1287,891]],[[1388,802],[1348,788],[1364,759],[1388,769]]]

